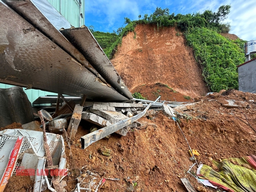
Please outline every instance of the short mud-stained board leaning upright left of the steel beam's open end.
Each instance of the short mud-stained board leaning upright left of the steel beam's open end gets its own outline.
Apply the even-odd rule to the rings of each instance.
[[[81,121],[82,111],[83,107],[79,104],[76,104],[67,130],[68,135],[70,134],[70,143],[72,143],[75,139],[77,128]]]

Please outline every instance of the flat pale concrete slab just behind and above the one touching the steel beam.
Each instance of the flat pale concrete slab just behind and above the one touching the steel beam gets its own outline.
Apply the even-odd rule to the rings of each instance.
[[[122,113],[116,111],[104,111],[104,110],[94,110],[90,109],[90,112],[97,114],[106,120],[110,121],[111,123],[119,122],[120,120],[127,119],[128,117]]]

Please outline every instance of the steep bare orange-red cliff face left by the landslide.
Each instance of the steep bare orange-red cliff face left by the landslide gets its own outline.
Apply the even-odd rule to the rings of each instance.
[[[174,27],[136,26],[111,62],[130,90],[160,82],[192,97],[208,92],[192,48]]]

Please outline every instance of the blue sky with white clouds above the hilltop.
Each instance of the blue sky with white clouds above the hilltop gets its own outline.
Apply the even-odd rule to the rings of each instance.
[[[244,40],[256,40],[255,0],[89,0],[85,1],[85,25],[95,30],[113,32],[124,25],[124,17],[138,20],[138,15],[152,14],[156,7],[169,8],[170,13],[216,12],[221,5],[230,4],[224,22],[230,22],[231,34]]]

